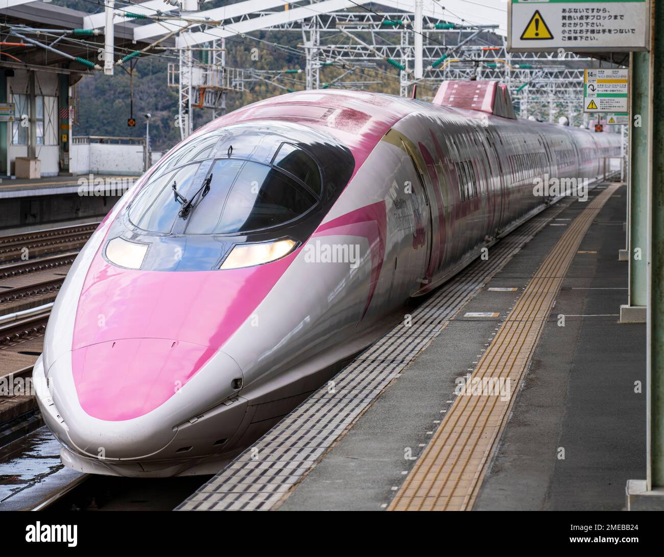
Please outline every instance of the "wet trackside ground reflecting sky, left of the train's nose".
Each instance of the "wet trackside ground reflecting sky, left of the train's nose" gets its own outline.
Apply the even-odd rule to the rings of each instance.
[[[40,427],[0,448],[0,510],[31,508],[78,476],[60,462],[60,443]]]

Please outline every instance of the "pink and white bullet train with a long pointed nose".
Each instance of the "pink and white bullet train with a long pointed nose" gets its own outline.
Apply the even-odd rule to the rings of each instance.
[[[618,154],[618,134],[517,121],[496,82],[434,102],[303,91],[210,122],[118,201],[60,289],[33,376],[62,462],[217,471],[540,211],[537,177],[594,178]]]

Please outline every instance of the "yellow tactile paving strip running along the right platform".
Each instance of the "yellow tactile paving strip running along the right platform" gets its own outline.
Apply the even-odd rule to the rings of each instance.
[[[483,380],[489,387],[491,382],[500,385],[503,381],[505,388],[509,385],[507,393],[459,394],[388,510],[467,510],[473,506],[560,284],[590,223],[618,187],[602,191],[570,223],[479,360],[470,381]]]

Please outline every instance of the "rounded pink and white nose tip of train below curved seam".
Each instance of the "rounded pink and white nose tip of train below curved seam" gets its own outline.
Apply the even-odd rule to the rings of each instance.
[[[208,360],[214,384],[196,377],[187,385]],[[223,352],[164,338],[91,344],[48,370],[66,424],[62,440],[81,455],[110,459],[158,457],[175,426],[232,395],[238,378],[240,368]]]

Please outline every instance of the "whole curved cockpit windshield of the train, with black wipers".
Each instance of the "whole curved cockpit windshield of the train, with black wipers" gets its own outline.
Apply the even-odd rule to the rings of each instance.
[[[297,219],[319,200],[320,171],[302,150],[282,150],[272,164],[221,158],[165,171],[133,201],[129,219],[145,231],[184,234],[247,233]]]

